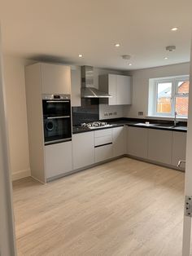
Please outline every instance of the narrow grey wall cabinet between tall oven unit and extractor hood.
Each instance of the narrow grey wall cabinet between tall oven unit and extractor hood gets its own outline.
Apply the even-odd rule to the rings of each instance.
[[[71,67],[72,107],[81,107],[81,67]]]

